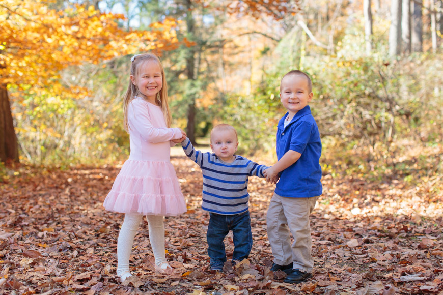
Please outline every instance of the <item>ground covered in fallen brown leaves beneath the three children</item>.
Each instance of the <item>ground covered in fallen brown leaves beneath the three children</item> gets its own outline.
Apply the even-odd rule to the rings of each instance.
[[[115,276],[123,214],[102,202],[120,166],[69,170],[21,166],[0,183],[0,294],[439,294],[443,295],[443,197],[433,184],[323,177],[311,216],[313,278],[298,285],[272,272],[266,210],[274,185],[250,178],[253,249],[209,271],[200,168],[172,157],[188,212],[165,218],[167,259],[154,267],[147,221],[135,237],[134,276]],[[225,239],[232,257],[232,235]]]

